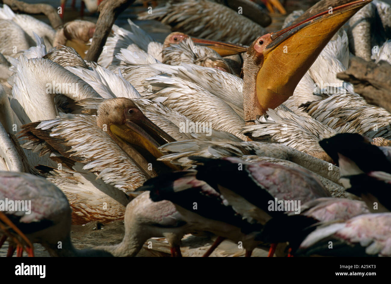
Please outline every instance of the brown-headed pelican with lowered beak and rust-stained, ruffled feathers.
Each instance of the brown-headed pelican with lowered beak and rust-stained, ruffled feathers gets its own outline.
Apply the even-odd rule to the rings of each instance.
[[[67,115],[25,124],[20,136],[28,141],[23,147],[40,155],[51,153],[49,157],[64,167],[38,169],[53,175],[48,180],[72,200],[75,224],[120,219],[128,202],[126,192],[170,167],[178,169],[155,161],[162,156],[157,147],[173,139],[127,98],[105,100],[96,118]],[[102,206],[107,208],[102,211]]]

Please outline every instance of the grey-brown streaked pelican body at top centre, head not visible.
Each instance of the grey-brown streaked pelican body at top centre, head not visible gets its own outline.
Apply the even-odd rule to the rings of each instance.
[[[255,4],[253,3],[253,5]],[[219,13],[215,13],[216,11],[219,11]],[[246,9],[243,9],[243,11],[246,12]],[[247,11],[252,13],[254,7],[249,7]],[[263,17],[266,21],[260,23]],[[257,36],[266,34],[263,25],[267,26],[270,23],[268,21],[270,17],[267,14],[261,16],[258,14],[250,20],[238,13],[238,7],[233,11],[221,4],[207,0],[169,2],[163,7],[155,8],[152,14],[147,12],[139,14],[138,19],[155,19],[190,36],[243,45],[249,45]],[[253,22],[253,20],[258,23]],[[231,23],[228,29],[226,23]]]

